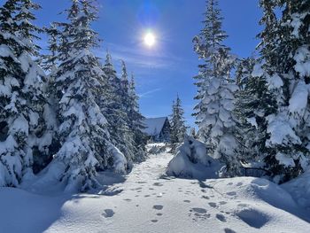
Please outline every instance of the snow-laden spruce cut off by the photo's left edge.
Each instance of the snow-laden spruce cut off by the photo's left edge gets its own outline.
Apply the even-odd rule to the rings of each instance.
[[[34,157],[48,150],[43,70],[31,21],[40,6],[8,0],[0,8],[0,186],[17,186],[33,174]]]

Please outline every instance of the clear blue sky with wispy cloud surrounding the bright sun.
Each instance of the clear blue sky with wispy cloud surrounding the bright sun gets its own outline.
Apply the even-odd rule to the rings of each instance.
[[[70,5],[69,0],[36,0],[43,9],[37,12],[37,24],[47,26],[62,20],[59,15]],[[176,94],[182,98],[185,117],[190,116],[196,87],[192,77],[198,73],[198,57],[192,38],[203,27],[205,0],[97,0],[99,20],[94,28],[104,40],[97,54],[105,58],[110,50],[119,70],[120,59],[128,71],[136,75],[140,107],[147,117],[167,116]],[[240,57],[248,57],[259,43],[261,12],[258,0],[220,0],[223,27],[229,35],[227,45]],[[143,35],[151,30],[157,37],[156,46],[143,44]],[[44,39],[43,39],[43,47]]]

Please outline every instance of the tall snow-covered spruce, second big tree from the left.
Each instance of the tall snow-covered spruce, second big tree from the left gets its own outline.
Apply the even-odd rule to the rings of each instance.
[[[107,121],[96,102],[104,75],[91,51],[98,44],[97,33],[90,27],[97,11],[91,0],[73,0],[66,12],[68,22],[61,24],[54,74],[61,148],[49,172],[58,173],[66,190],[87,190],[97,186],[97,167],[110,157],[112,146]]]

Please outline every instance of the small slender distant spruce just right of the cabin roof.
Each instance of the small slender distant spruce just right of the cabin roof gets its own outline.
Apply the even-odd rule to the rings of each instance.
[[[184,141],[184,136],[186,134],[186,126],[184,120],[184,110],[182,109],[182,103],[179,95],[177,95],[175,102],[172,105],[171,114],[171,144],[181,144]]]

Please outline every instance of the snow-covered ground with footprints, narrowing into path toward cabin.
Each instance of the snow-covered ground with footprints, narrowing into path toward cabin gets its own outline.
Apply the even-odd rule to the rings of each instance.
[[[100,195],[2,188],[0,232],[309,232],[310,210],[280,186],[250,177],[167,177],[172,157],[151,155],[127,177],[102,174],[108,183]]]

